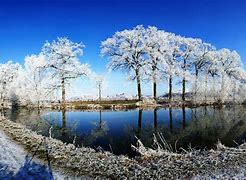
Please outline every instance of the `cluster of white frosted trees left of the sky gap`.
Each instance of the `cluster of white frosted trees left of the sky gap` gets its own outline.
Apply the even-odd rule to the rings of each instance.
[[[101,91],[103,78],[92,72],[88,64],[79,61],[83,48],[82,43],[58,38],[46,42],[40,54],[26,56],[24,66],[11,61],[0,64],[1,102],[10,99],[39,107],[40,101],[51,100],[60,91],[64,103],[66,87],[73,79],[83,76],[92,78],[97,87],[100,84]]]

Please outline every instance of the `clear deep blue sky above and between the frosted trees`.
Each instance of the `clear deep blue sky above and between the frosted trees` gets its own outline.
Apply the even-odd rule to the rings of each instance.
[[[123,73],[107,73],[107,60],[99,56],[101,41],[138,24],[152,25],[236,50],[246,63],[245,9],[244,0],[0,0],[0,62],[23,63],[46,40],[66,36],[85,44],[81,62],[107,74],[105,94],[135,94],[135,84],[126,83]],[[83,87],[77,91],[89,94],[92,86],[83,81],[77,81]],[[158,90],[166,92],[165,83]],[[144,84],[143,92],[151,94],[151,85]]]

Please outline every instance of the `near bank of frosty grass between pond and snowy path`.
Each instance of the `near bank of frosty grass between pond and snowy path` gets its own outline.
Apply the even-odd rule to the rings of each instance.
[[[0,118],[0,128],[30,153],[43,139],[43,136],[36,132],[5,118]],[[49,155],[53,166],[92,178],[213,177],[220,170],[231,168],[234,171],[246,165],[246,143],[238,148],[229,148],[218,143],[217,148],[212,150],[174,153],[164,149],[145,148],[140,142],[139,146],[134,148],[141,156],[129,158],[109,152],[96,152],[87,147],[76,148],[53,138],[46,138],[46,142],[50,148]],[[38,158],[44,159],[44,151],[43,146],[38,149]],[[231,177],[230,172],[228,173],[228,177]]]

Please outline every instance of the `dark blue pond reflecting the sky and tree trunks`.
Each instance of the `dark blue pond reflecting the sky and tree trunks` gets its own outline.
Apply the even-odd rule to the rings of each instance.
[[[147,147],[161,133],[177,150],[215,147],[220,140],[236,146],[246,138],[246,107],[159,108],[122,111],[53,111],[12,109],[7,118],[44,136],[76,146],[100,147],[133,156],[137,138]]]

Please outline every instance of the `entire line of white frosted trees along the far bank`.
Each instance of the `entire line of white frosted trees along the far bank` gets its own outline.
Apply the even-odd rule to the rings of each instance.
[[[41,100],[50,100],[57,90],[65,102],[66,87],[79,77],[93,79],[101,99],[105,79],[79,61],[83,49],[82,43],[58,38],[46,42],[38,55],[26,56],[24,66],[11,61],[0,64],[1,102],[11,99],[39,107]],[[184,101],[187,83],[194,101],[245,98],[246,75],[240,55],[229,49],[216,50],[201,39],[181,37],[156,27],[136,26],[103,41],[101,54],[109,59],[109,70],[126,71],[128,78],[137,82],[139,100],[142,100],[143,81],[152,82],[154,99],[157,99],[157,84],[165,81],[170,100],[174,83],[182,84]]]

